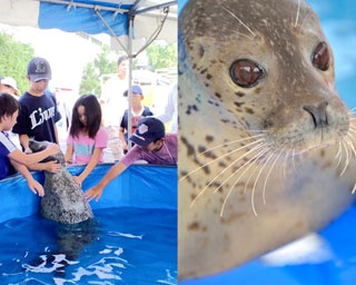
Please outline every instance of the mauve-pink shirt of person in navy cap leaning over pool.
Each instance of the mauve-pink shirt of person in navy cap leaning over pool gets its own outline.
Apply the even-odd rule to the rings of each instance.
[[[128,167],[135,161],[142,159],[152,165],[177,165],[177,142],[178,139],[176,134],[167,134],[162,148],[157,153],[145,151],[139,146],[135,145],[120,163]]]

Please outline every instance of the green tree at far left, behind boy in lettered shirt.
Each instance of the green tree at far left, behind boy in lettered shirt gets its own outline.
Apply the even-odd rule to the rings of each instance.
[[[21,92],[29,87],[26,79],[27,65],[33,57],[34,50],[31,46],[0,32],[0,75],[13,77]]]

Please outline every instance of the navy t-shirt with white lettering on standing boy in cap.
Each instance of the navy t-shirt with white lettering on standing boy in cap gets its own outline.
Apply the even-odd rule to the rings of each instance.
[[[24,92],[19,102],[21,111],[12,131],[28,135],[34,140],[56,142],[55,125],[61,119],[57,101],[51,92],[44,91],[40,97]]]

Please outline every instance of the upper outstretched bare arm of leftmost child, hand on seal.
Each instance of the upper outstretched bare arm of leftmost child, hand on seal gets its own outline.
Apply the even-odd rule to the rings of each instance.
[[[32,164],[36,164],[36,163],[43,160],[48,156],[58,154],[59,151],[60,151],[60,148],[58,145],[49,144],[49,146],[44,150],[36,153],[36,154],[27,155],[27,154],[23,154],[19,149],[14,149],[13,151],[11,151],[9,154],[8,157],[18,164],[30,166]]]

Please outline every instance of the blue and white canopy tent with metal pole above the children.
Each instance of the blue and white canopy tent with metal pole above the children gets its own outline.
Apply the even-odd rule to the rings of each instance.
[[[4,0],[0,22],[57,28],[68,32],[108,33],[129,57],[129,98],[132,59],[154,40],[177,41],[177,0]],[[134,51],[135,39],[144,39]],[[128,100],[131,109],[131,100]],[[131,112],[128,114],[129,117]],[[131,129],[131,120],[128,120]]]

